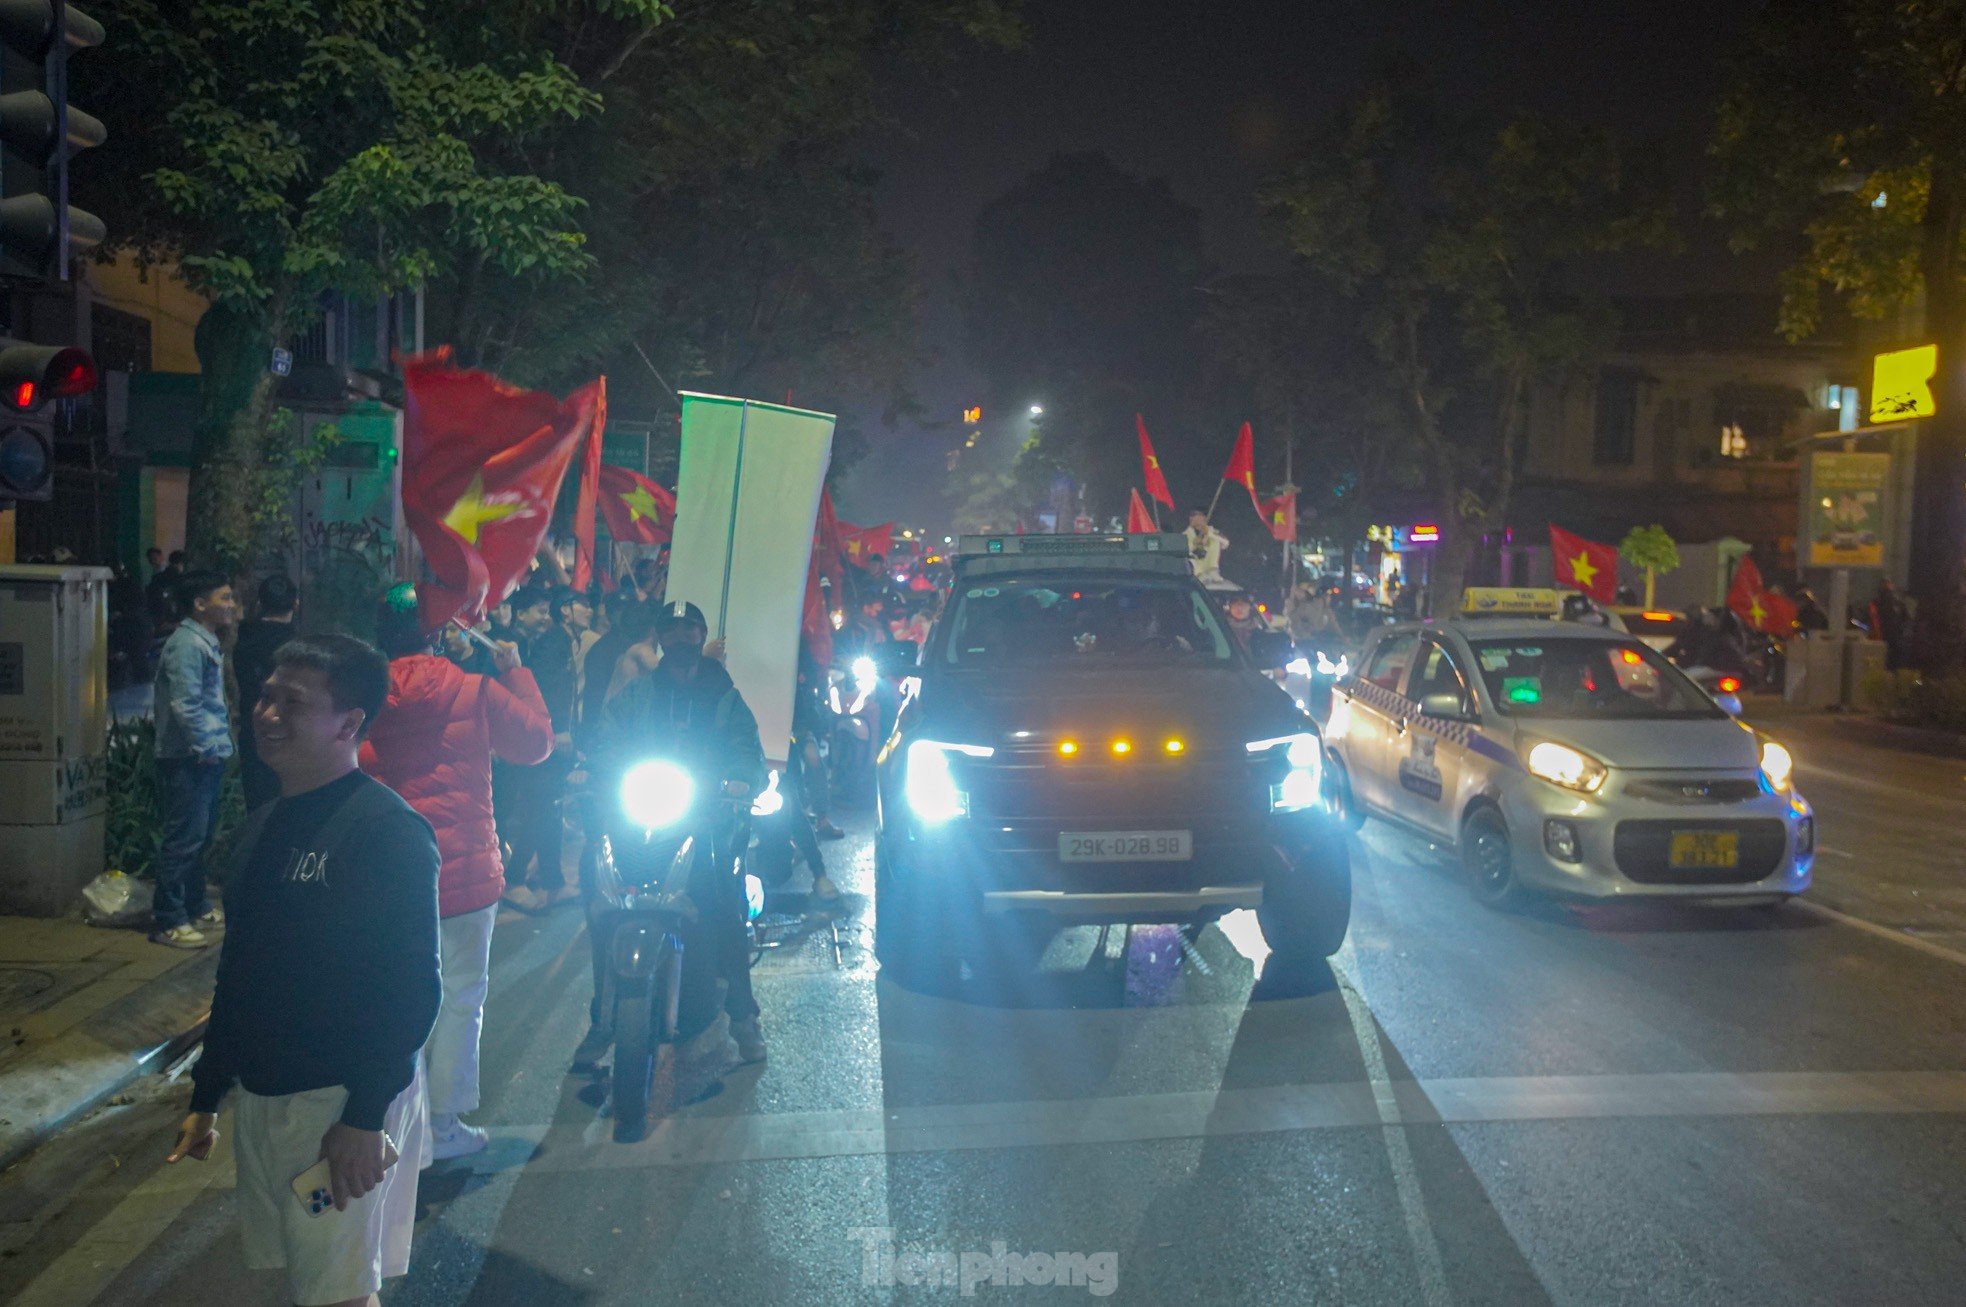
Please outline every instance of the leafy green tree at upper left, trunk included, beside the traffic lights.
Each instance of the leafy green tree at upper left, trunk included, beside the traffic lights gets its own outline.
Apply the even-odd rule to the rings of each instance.
[[[621,0],[655,12],[653,0]],[[328,295],[421,285],[446,250],[513,277],[578,271],[578,200],[525,169],[486,167],[523,138],[596,108],[560,63],[448,59],[419,4],[130,0],[88,61],[112,114],[85,169],[122,246],[173,259],[212,307],[199,320],[202,415],[189,548],[240,566],[258,474],[281,450],[269,354]]]

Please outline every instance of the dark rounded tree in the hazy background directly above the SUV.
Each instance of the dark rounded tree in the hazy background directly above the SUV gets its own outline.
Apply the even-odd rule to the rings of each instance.
[[[1138,478],[1134,413],[1166,432],[1176,485],[1229,448],[1233,425],[1219,446],[1197,438],[1205,271],[1195,210],[1105,155],[1056,155],[977,214],[967,326],[985,409],[1042,403],[1038,444],[1095,517],[1125,509]]]

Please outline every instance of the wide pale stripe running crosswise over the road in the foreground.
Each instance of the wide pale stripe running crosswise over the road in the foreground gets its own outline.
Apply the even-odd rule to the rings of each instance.
[[[1966,1071],[1685,1071],[1388,1081],[1400,1122],[1714,1116],[1958,1116]],[[586,1120],[493,1126],[493,1140],[533,1152],[529,1175],[554,1171],[727,1165],[812,1158],[1138,1144],[1384,1124],[1368,1081],[1201,1089],[1109,1099],[948,1103],[753,1116],[678,1114],[641,1144],[582,1144]],[[507,1156],[517,1150],[505,1150]],[[480,1154],[482,1156],[482,1154]]]

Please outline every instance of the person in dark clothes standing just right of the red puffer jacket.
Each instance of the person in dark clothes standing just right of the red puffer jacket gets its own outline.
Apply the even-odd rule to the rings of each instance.
[[[574,639],[568,609],[574,592],[521,590],[511,601],[513,625],[519,629],[519,653],[539,684],[539,694],[552,715],[552,753],[535,767],[515,767],[505,772],[509,806],[507,822],[511,859],[505,863],[509,882],[505,902],[523,912],[537,912],[578,898],[580,890],[566,882],[562,863],[564,825],[560,800],[566,796],[566,776],[574,768],[576,672]],[[527,886],[527,881],[533,884]]]

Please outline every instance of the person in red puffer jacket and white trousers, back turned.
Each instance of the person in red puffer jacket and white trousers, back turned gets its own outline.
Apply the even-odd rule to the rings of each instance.
[[[492,759],[529,767],[552,753],[552,721],[519,651],[499,645],[495,676],[460,670],[431,651],[417,619],[417,592],[397,586],[376,615],[389,654],[389,700],[362,745],[362,770],[401,794],[436,831],[444,869],[444,1006],[423,1050],[433,1156],[462,1158],[486,1132],[458,1120],[478,1108],[478,1036],[492,975],[492,924],[505,888],[492,824]]]

